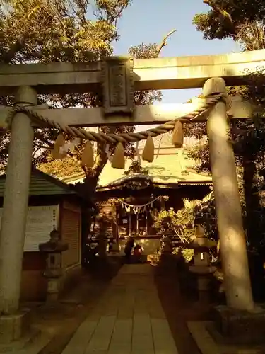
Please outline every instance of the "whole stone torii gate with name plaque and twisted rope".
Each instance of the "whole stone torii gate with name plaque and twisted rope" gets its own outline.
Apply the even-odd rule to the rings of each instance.
[[[57,127],[77,137],[97,140],[100,136],[96,133],[89,134],[77,127],[170,121],[170,124],[160,126],[162,130],[150,130],[140,135],[133,133],[129,137],[101,136],[104,141],[117,143],[159,135],[163,131],[172,130],[177,120],[187,122],[191,118],[196,118],[194,121],[208,118],[207,131],[227,302],[232,309],[249,312],[254,309],[227,120],[228,115],[231,119],[249,118],[254,108],[238,99],[230,100],[228,105],[225,84],[243,84],[246,70],[254,71],[257,67],[264,66],[264,57],[265,50],[257,50],[201,57],[135,60],[112,57],[105,62],[0,66],[0,94],[15,96],[13,108],[0,109],[1,125],[11,128],[0,233],[0,312],[4,315],[0,316],[2,324],[3,321],[15,321],[15,314],[19,310],[33,127],[36,125]],[[103,108],[66,110],[37,106],[38,93],[83,93],[100,90],[101,86]],[[202,86],[205,99],[197,103],[134,108],[134,90]]]

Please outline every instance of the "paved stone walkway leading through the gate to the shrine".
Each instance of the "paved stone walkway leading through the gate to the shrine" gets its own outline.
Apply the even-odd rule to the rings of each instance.
[[[177,354],[151,265],[124,265],[61,354]]]

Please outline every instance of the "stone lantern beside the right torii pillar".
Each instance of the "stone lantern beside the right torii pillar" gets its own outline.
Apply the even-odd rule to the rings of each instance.
[[[194,265],[190,265],[189,270],[198,276],[199,300],[208,302],[210,275],[216,271],[211,265],[209,250],[217,246],[217,241],[207,239],[201,226],[196,227],[195,236],[189,244],[189,248],[194,249]]]

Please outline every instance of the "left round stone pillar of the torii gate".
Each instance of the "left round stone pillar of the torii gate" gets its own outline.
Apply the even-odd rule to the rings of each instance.
[[[37,93],[31,87],[20,87],[15,103],[36,105]],[[30,118],[24,113],[17,113],[11,127],[0,232],[1,314],[14,314],[19,306],[33,137]]]

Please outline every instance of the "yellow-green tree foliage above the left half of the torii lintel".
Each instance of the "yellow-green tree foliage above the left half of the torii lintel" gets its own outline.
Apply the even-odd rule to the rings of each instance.
[[[1,61],[80,62],[112,54],[114,21],[128,1],[115,1],[111,9],[107,2],[98,1],[95,18],[88,20],[87,0],[10,1],[1,16]]]

